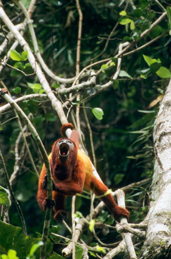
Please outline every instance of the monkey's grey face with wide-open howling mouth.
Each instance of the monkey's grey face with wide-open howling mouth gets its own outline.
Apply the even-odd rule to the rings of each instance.
[[[56,143],[56,147],[59,150],[59,160],[61,162],[66,162],[69,158],[70,151],[74,150],[74,143],[69,139],[60,139]]]

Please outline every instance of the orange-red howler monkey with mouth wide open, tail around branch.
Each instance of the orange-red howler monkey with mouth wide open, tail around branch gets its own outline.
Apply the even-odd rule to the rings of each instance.
[[[73,196],[82,193],[85,187],[95,195],[103,195],[107,187],[93,176],[91,162],[88,156],[79,149],[79,134],[71,123],[61,127],[61,135],[66,136],[66,129],[72,129],[71,137],[56,140],[49,155],[52,171],[53,200],[47,199],[47,177],[46,168],[43,165],[38,184],[37,201],[40,209],[45,211],[46,207],[54,207],[54,219],[61,222],[68,217],[64,203],[67,195]],[[129,211],[119,207],[111,194],[101,197],[115,219],[119,217],[129,218]]]

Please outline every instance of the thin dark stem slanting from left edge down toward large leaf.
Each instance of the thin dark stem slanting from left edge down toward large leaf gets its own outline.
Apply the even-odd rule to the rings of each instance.
[[[23,216],[23,212],[21,210],[21,207],[13,193],[13,189],[11,187],[11,184],[9,182],[9,177],[8,177],[8,173],[7,173],[7,168],[5,166],[5,162],[4,162],[4,159],[3,159],[3,156],[2,156],[2,153],[1,153],[1,150],[0,150],[0,161],[1,161],[1,165],[2,165],[2,168],[4,170],[4,174],[5,174],[5,179],[6,179],[6,182],[7,182],[7,185],[8,185],[8,189],[10,191],[10,194],[13,198],[13,201],[17,207],[17,211],[19,213],[19,216],[20,216],[20,219],[21,219],[21,222],[22,222],[22,226],[23,226],[23,232],[27,235],[27,229],[26,229],[26,223],[25,223],[25,219],[24,219],[24,216]]]

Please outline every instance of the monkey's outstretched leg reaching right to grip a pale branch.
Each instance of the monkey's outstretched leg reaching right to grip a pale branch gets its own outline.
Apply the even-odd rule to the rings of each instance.
[[[103,195],[108,190],[107,187],[94,176],[91,178],[90,189],[95,193],[96,196]],[[120,217],[126,217],[129,219],[129,211],[119,207],[110,193],[104,197],[101,197],[100,199],[105,203],[106,207],[109,209],[109,211],[111,211],[113,217],[116,220],[118,220]]]

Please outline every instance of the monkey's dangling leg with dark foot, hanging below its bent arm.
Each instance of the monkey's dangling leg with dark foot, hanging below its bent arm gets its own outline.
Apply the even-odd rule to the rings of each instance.
[[[68,212],[65,211],[65,199],[65,195],[53,191],[53,200],[55,200],[56,203],[54,206],[54,219],[56,221],[62,222],[62,220],[68,219]]]

